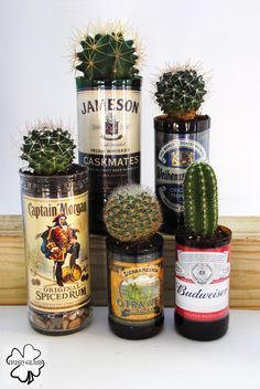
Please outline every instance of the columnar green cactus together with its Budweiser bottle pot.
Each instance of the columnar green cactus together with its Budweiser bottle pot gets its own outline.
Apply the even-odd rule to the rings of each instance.
[[[217,339],[228,329],[231,231],[218,225],[217,180],[206,162],[186,171],[184,217],[175,235],[175,327],[192,339]]]

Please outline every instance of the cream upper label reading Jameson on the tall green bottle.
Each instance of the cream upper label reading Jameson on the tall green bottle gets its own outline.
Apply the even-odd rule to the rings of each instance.
[[[77,107],[80,153],[124,155],[140,151],[139,91],[80,91]]]

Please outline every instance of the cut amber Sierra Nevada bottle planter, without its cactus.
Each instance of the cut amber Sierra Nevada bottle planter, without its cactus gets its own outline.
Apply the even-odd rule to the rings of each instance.
[[[107,238],[109,326],[128,339],[144,339],[163,327],[163,238],[122,243]]]

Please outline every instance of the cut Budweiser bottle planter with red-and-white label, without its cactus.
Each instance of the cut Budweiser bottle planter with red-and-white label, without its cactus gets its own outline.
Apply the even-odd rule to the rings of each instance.
[[[231,231],[192,239],[178,230],[175,264],[176,330],[191,339],[214,340],[228,330]]]

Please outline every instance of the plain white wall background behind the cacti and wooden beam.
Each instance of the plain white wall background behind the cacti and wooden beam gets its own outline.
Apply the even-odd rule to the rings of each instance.
[[[98,19],[128,21],[143,41],[142,182],[154,182],[153,117],[160,111],[151,80],[165,62],[199,61],[213,76],[203,112],[213,119],[220,213],[260,214],[259,0],[2,0],[0,213],[21,212],[24,123],[62,118],[77,133],[69,45],[75,30]]]

